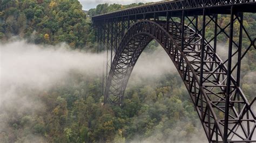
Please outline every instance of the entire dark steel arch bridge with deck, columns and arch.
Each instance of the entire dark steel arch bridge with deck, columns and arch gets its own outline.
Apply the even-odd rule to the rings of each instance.
[[[133,67],[156,40],[183,79],[208,141],[256,142],[256,97],[249,102],[240,88],[241,60],[256,48],[244,26],[245,12],[256,12],[255,0],[181,0],[92,17],[98,49],[110,51],[104,103],[122,104]],[[230,21],[219,25],[223,15]],[[214,33],[206,39],[210,26]],[[220,34],[228,39],[226,59],[217,53]]]

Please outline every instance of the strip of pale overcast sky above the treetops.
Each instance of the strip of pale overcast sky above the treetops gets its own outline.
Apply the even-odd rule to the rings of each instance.
[[[161,0],[79,0],[83,5],[83,10],[89,10],[92,8],[96,8],[98,4],[103,3],[117,3],[117,4],[131,4],[131,3],[147,3],[147,2],[159,2]]]

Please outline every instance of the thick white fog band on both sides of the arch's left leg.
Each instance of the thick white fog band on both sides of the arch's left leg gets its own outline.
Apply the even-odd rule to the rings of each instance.
[[[27,103],[22,104],[26,108],[33,105],[30,105],[28,95],[19,95],[21,91],[26,90],[33,95],[32,90],[48,90],[66,82],[65,78],[73,71],[83,75],[101,76],[106,58],[106,53],[75,51],[65,44],[39,46],[28,44],[24,40],[2,44],[0,49],[0,105],[18,100]],[[170,58],[163,49],[158,48],[152,54],[143,53],[140,56],[131,78],[142,80],[172,71],[176,69]],[[37,105],[40,105],[39,102]]]

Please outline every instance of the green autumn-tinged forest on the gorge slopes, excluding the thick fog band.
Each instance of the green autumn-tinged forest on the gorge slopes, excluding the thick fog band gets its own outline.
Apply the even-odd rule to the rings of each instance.
[[[71,51],[96,53],[91,17],[139,5],[143,3],[99,4],[85,12],[78,0],[2,0],[1,51],[2,45],[26,40],[41,47],[54,48],[64,43]],[[256,15],[245,13],[244,19],[244,26],[254,39]],[[219,24],[225,25],[229,20],[223,15]],[[206,37],[213,35],[213,28],[208,27]],[[238,35],[234,34],[234,39],[238,40]],[[227,37],[220,35],[218,40],[225,51]],[[243,47],[248,45],[244,35]],[[145,56],[161,50],[157,42],[149,48]],[[248,51],[241,70],[241,88],[250,101],[256,95],[255,49]],[[103,105],[101,74],[71,70],[47,89],[21,85],[14,89],[21,96],[0,100],[0,142],[207,141],[178,72],[167,71],[170,72],[160,72],[158,76],[132,74],[122,106]],[[4,94],[2,86],[1,90]],[[32,106],[19,110],[24,98],[29,98]]]

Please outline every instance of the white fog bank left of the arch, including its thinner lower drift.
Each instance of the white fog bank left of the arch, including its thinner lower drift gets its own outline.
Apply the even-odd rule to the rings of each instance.
[[[74,51],[66,44],[39,46],[24,40],[0,44],[0,138],[1,133],[11,133],[16,119],[44,111],[38,91],[65,84],[72,72],[101,75],[103,55]],[[39,139],[44,140],[30,134],[21,140]]]

